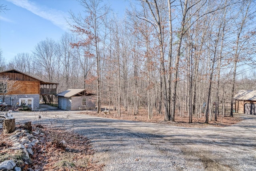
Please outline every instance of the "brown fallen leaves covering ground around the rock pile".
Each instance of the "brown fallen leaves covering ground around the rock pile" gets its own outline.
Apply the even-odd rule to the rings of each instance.
[[[17,127],[17,125],[16,125]],[[35,130],[35,125],[33,129]],[[92,161],[94,150],[87,137],[72,131],[52,127],[40,129],[39,143],[32,147],[34,155],[30,155],[28,162],[16,163],[23,171],[101,171],[104,165],[97,165]],[[12,142],[8,137],[11,134],[2,134],[0,129],[0,162],[6,159],[15,159]],[[64,141],[63,141],[64,140]],[[60,143],[62,141],[62,143]],[[65,142],[65,143],[63,143]],[[16,165],[16,166],[17,166]]]

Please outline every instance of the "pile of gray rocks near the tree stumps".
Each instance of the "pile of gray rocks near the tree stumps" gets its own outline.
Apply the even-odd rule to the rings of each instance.
[[[9,137],[9,139],[13,142],[13,146],[9,149],[12,150],[22,150],[26,157],[29,159],[29,155],[33,155],[32,147],[36,145],[39,140],[39,135],[44,135],[44,133],[41,133],[39,129],[36,129],[32,132],[32,134],[28,133],[25,129],[17,129],[12,133],[12,135]],[[25,164],[28,164],[25,162]],[[4,171],[21,171],[20,167],[15,167],[16,163],[14,163],[13,160],[6,160],[0,163],[0,170]]]

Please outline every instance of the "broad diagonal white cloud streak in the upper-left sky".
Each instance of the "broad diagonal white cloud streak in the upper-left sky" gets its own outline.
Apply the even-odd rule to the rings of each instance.
[[[20,6],[22,8],[25,8],[26,10],[32,12],[33,14],[36,14],[37,16],[40,16],[46,20],[49,20],[52,22],[52,24],[58,26],[64,31],[69,30],[69,25],[67,24],[64,16],[67,14],[63,11],[56,10],[53,8],[47,8],[45,6],[39,6],[38,4],[28,1],[28,0],[8,0],[12,4],[16,6]]]

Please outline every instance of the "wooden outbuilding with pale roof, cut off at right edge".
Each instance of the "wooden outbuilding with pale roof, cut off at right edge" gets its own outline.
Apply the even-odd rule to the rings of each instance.
[[[236,112],[256,115],[256,90],[241,90],[234,95]]]

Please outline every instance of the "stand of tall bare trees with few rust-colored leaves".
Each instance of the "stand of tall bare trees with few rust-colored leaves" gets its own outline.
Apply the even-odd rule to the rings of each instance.
[[[148,117],[175,114],[217,119],[241,89],[256,89],[256,2],[139,0],[118,18],[101,0],[79,0],[72,33],[38,42],[0,71],[16,69],[59,83],[58,92],[87,89],[97,109]],[[84,17],[85,16],[85,17]],[[230,107],[229,107],[230,108]]]

